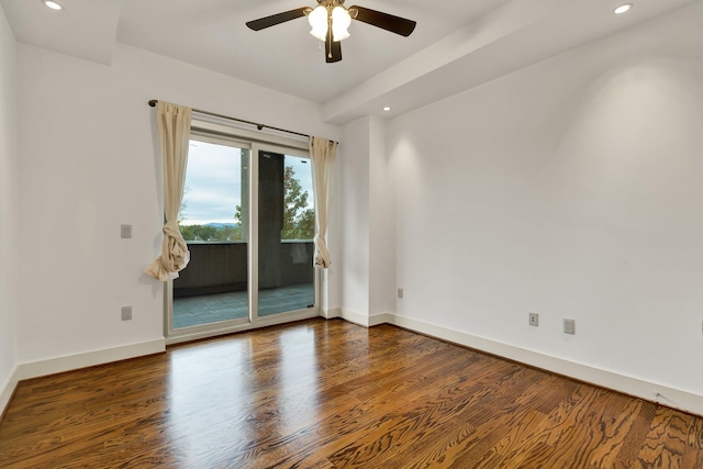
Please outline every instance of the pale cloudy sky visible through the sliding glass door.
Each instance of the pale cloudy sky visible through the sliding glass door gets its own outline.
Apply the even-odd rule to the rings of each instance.
[[[190,142],[182,224],[236,223],[234,213],[242,203],[241,155],[241,148]],[[293,167],[295,178],[310,192],[308,200],[312,205],[310,161],[286,156],[286,166]]]

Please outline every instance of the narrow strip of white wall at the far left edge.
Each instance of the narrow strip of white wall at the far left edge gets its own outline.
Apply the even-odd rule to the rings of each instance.
[[[16,45],[0,7],[0,414],[16,364]],[[9,390],[8,392],[11,392]]]

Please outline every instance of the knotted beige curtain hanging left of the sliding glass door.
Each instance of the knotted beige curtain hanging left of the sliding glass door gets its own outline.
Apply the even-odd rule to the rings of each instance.
[[[164,174],[164,243],[161,255],[144,270],[150,277],[166,281],[178,277],[190,260],[188,246],[178,230],[178,211],[183,199],[188,144],[190,139],[190,108],[158,102],[158,144]]]

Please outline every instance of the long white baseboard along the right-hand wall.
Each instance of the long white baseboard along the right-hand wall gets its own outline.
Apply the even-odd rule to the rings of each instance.
[[[389,324],[703,416],[703,395],[527,350],[411,317],[391,313],[384,316],[388,317],[389,321],[387,322]]]

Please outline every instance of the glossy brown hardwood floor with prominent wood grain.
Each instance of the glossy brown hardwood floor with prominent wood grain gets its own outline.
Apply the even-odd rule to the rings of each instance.
[[[11,468],[703,468],[703,418],[311,320],[21,382]]]

